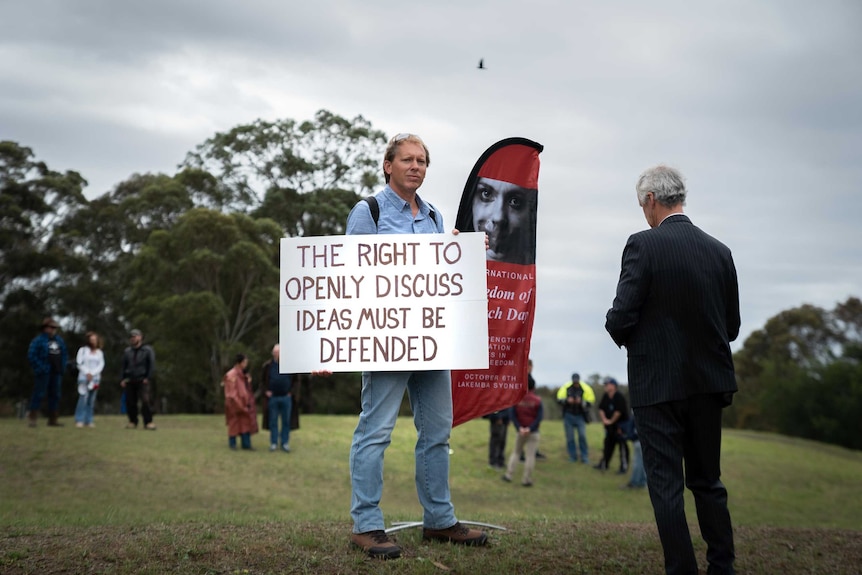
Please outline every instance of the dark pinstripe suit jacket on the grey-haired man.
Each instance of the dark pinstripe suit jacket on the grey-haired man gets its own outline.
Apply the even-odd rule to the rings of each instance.
[[[605,329],[626,347],[633,407],[735,392],[739,324],[727,246],[684,215],[629,238]]]

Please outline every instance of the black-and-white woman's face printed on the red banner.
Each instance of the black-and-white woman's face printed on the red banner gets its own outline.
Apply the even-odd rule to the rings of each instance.
[[[520,263],[529,243],[534,190],[509,182],[479,178],[473,195],[473,229],[488,234],[490,260]]]

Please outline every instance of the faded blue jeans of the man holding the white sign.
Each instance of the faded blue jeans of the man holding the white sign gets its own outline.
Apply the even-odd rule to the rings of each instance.
[[[416,492],[423,524],[446,529],[458,520],[449,494],[452,378],[449,371],[373,371],[362,374],[362,413],[350,447],[353,532],[385,529],[383,452],[392,440],[404,390],[416,427]]]

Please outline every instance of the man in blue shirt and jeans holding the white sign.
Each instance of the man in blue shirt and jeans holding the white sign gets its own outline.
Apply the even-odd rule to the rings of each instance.
[[[417,190],[430,163],[428,148],[414,134],[398,134],[383,158],[386,187],[359,202],[347,219],[347,234],[438,234],[443,217]],[[452,385],[449,370],[364,371],[362,412],[350,448],[351,542],[372,557],[394,559],[401,548],[386,535],[380,499],[383,453],[407,390],[416,442],[416,490],[424,509],[423,538],[484,545],[487,535],[456,519],[449,494],[449,434]]]

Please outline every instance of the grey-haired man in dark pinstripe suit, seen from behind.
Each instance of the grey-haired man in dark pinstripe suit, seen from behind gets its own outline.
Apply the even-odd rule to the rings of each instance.
[[[707,573],[734,573],[733,528],[721,482],[721,411],[736,392],[730,342],[739,287],[730,250],[683,214],[682,175],[641,174],[649,230],[632,235],[605,328],[628,353],[629,397],[668,574],[697,574],[683,491],[694,495]]]

